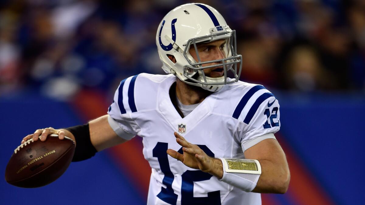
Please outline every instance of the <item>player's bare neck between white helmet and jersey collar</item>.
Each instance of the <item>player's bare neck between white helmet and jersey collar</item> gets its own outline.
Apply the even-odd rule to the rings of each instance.
[[[202,102],[212,92],[194,85],[186,84],[176,78],[176,96],[184,105],[193,105]]]

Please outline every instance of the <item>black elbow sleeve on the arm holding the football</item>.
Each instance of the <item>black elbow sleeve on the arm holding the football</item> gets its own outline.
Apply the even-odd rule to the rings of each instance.
[[[76,140],[75,154],[72,162],[78,162],[89,159],[97,152],[90,140],[89,124],[77,125],[66,128],[70,131]]]

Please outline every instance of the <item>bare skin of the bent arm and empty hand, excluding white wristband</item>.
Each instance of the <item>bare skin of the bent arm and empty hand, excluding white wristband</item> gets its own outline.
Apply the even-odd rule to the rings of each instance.
[[[205,154],[197,145],[187,142],[174,133],[176,142],[183,146],[183,154],[169,149],[167,153],[193,169],[210,173],[218,179],[223,177],[222,161]],[[245,151],[246,159],[257,159],[261,165],[261,175],[252,192],[278,193],[287,191],[290,173],[283,149],[276,139],[265,139]]]

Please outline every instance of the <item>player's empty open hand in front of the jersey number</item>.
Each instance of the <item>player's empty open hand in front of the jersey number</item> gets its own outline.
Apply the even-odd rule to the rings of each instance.
[[[176,142],[183,147],[183,154],[175,150],[168,149],[166,152],[173,158],[181,161],[184,165],[200,169],[201,171],[215,175],[218,178],[223,177],[223,165],[220,159],[212,158],[205,154],[205,152],[196,144],[191,144],[183,138],[183,136],[174,132]]]

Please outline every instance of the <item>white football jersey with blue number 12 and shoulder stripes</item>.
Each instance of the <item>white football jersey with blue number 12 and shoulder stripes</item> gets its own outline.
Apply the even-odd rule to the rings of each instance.
[[[278,100],[262,85],[238,81],[182,118],[169,96],[174,82],[172,74],[129,77],[120,83],[108,111],[120,128],[143,138],[143,155],[152,168],[147,204],[261,204],[259,193],[191,169],[166,150],[182,153],[173,134],[178,132],[210,156],[245,158],[245,150],[274,138],[280,129]]]

